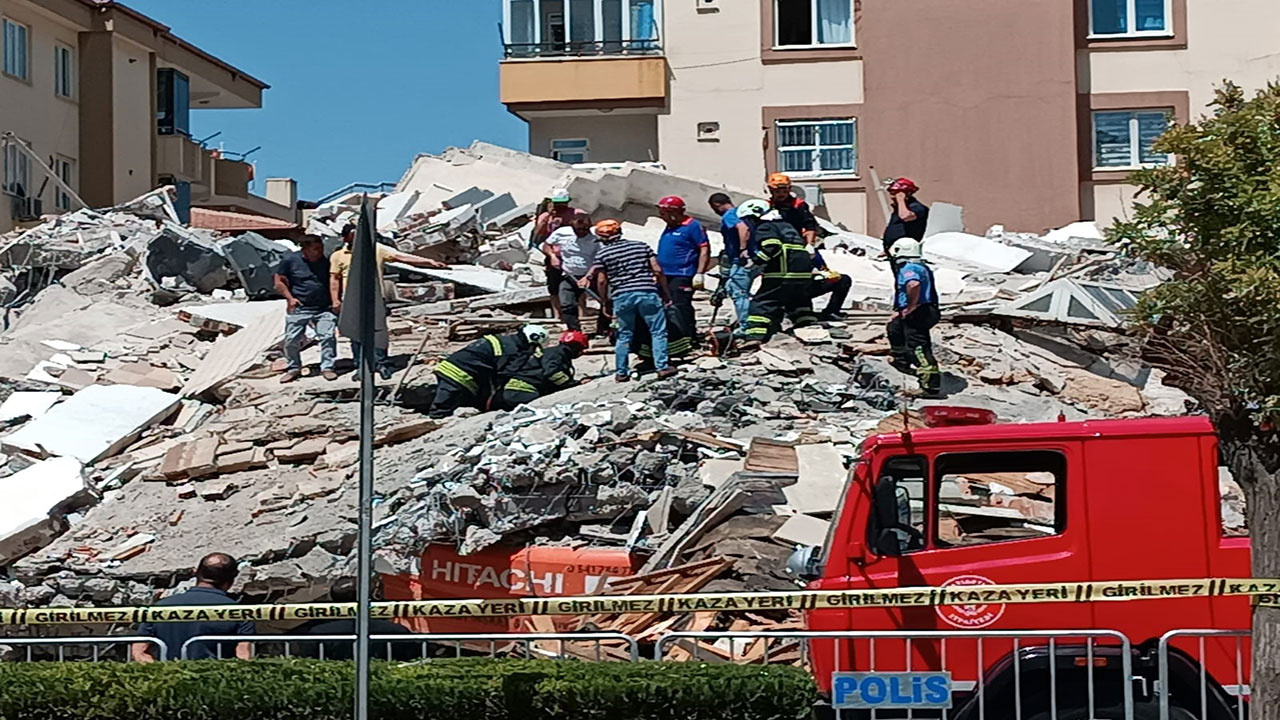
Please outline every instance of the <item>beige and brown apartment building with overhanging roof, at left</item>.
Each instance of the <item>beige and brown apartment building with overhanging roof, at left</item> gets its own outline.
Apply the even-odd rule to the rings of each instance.
[[[261,108],[266,83],[110,0],[0,0],[0,232],[159,184],[182,205],[296,220],[287,184],[248,192],[252,167],[219,158],[189,133],[192,110]],[[38,161],[37,161],[38,159]],[[47,168],[47,170],[46,170]]]

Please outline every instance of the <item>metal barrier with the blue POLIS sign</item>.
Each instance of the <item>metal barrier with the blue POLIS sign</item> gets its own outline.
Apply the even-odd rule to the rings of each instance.
[[[698,641],[712,641],[719,657],[708,657]],[[684,647],[690,660],[733,661],[749,651],[754,657],[745,660],[768,662],[768,646],[760,650],[759,641],[818,641],[810,643],[813,652],[829,643],[833,673],[950,673],[951,691],[964,693],[966,716],[978,720],[986,720],[989,705],[1004,702],[1011,702],[1012,707],[996,708],[1001,717],[1012,715],[1014,720],[1023,720],[1041,715],[1041,701],[1047,705],[1050,720],[1057,720],[1060,697],[1074,701],[1074,693],[1082,689],[1087,702],[1083,707],[1091,711],[1091,717],[1098,717],[1100,707],[1115,707],[1117,701],[1125,720],[1133,720],[1132,646],[1128,637],[1115,630],[668,633],[654,646],[653,657],[667,660],[668,650]],[[1119,673],[1114,661],[1119,661]],[[810,662],[823,665],[818,657],[810,657]],[[1011,666],[1005,676],[1011,675],[1012,687],[989,687],[989,678],[1006,665]],[[1106,700],[1100,703],[1100,697]],[[835,697],[833,705],[838,705]],[[1080,705],[1071,702],[1071,707]],[[870,717],[877,717],[876,707],[860,710],[870,710]],[[941,708],[941,714],[933,715],[947,719],[957,710],[961,708]],[[836,717],[841,712],[837,707]],[[908,719],[915,715],[906,710]]]

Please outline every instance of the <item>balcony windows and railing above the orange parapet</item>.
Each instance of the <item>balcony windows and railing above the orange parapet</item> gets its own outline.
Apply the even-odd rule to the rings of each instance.
[[[662,54],[662,0],[503,0],[508,60]]]

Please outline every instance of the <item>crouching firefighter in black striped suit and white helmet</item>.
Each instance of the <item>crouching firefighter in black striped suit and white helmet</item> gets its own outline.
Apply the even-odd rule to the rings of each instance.
[[[435,364],[433,418],[448,418],[458,407],[485,411],[495,388],[535,357],[541,357],[547,328],[525,325],[509,334],[486,334]]]

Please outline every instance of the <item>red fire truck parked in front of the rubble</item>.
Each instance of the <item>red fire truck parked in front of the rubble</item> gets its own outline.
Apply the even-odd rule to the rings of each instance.
[[[1207,419],[988,424],[995,418],[980,410],[931,415],[934,427],[867,439],[826,547],[794,559],[810,589],[1249,577],[1248,538],[1222,530]],[[1228,720],[1247,703],[1247,639],[1170,637],[1157,652],[1174,630],[1249,628],[1247,598],[867,607],[806,619],[813,632],[934,633],[812,639],[828,696],[833,674],[946,670],[956,691],[948,717],[960,720],[1125,717],[1126,701],[1134,717],[1158,717],[1161,696],[1170,717]],[[1116,633],[1108,642],[1050,639],[1050,630]]]

